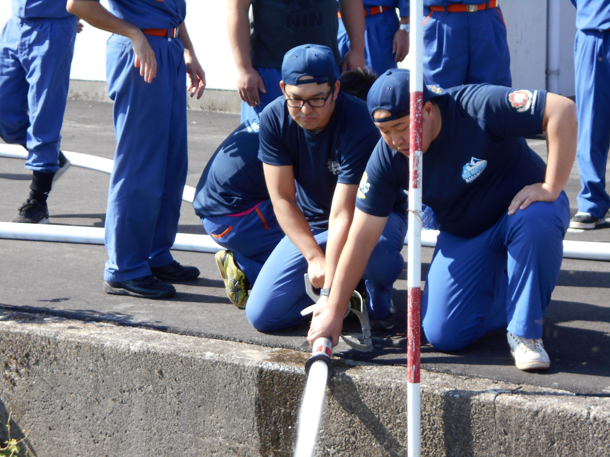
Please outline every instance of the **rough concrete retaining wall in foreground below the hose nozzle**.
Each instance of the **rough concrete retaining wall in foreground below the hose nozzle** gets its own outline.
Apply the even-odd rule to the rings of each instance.
[[[306,353],[9,312],[0,335],[30,456],[291,455]],[[405,379],[338,360],[318,455],[406,456]],[[423,372],[422,427],[423,456],[603,456],[610,398]]]

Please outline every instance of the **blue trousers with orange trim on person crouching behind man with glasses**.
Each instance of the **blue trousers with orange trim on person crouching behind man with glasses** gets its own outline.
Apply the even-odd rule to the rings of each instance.
[[[201,223],[216,243],[232,250],[235,263],[251,284],[256,282],[271,251],[284,237],[271,200],[265,200],[243,216],[209,216],[201,218]]]

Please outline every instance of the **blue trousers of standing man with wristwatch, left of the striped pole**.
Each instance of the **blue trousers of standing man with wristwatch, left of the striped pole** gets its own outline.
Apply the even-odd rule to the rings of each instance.
[[[367,66],[377,74],[383,74],[390,68],[397,68],[392,46],[398,25],[398,16],[393,8],[364,19],[364,58]],[[345,57],[350,51],[350,40],[342,19],[339,19],[337,41],[341,57]]]

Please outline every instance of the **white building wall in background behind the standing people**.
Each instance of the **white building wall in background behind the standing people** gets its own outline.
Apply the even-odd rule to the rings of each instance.
[[[546,88],[547,1],[561,2],[560,93],[574,94],[573,40],[575,10],[569,0],[504,0],[501,7],[508,30],[511,73],[515,87]],[[107,0],[102,0],[107,4]],[[10,12],[10,0],[0,0],[0,21]],[[187,0],[187,29],[207,87],[235,89],[235,66],[226,32],[226,0]],[[107,32],[85,24],[74,49],[71,78],[106,80]]]

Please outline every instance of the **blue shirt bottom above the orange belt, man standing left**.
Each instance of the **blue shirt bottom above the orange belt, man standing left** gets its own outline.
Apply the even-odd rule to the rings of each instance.
[[[174,29],[187,14],[185,0],[108,0],[108,4],[113,15],[138,29]]]

